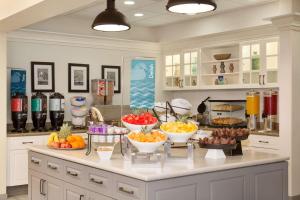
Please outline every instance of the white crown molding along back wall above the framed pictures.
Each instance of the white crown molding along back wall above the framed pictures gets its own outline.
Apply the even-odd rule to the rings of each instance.
[[[160,54],[160,44],[155,42],[114,39],[32,29],[20,29],[8,34],[8,42],[29,42],[95,49],[139,51]]]

